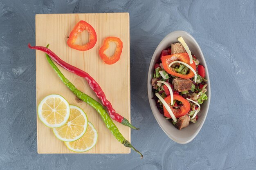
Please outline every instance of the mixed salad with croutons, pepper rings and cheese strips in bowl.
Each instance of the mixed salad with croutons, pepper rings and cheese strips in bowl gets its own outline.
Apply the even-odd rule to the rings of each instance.
[[[208,97],[204,66],[199,65],[182,37],[178,41],[162,50],[151,84],[159,112],[180,130],[196,123]]]

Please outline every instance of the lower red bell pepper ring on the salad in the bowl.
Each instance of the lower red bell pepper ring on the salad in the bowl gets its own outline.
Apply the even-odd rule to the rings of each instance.
[[[165,100],[165,102],[170,104],[171,96],[169,95],[169,96],[165,97],[164,100]],[[170,108],[173,111],[173,114],[175,115],[176,118],[182,117],[182,116],[186,115],[187,113],[189,113],[190,104],[186,99],[184,99],[181,95],[173,94],[173,100],[180,101],[183,104],[182,106],[180,106],[179,109],[175,109],[172,106],[170,106]],[[169,112],[167,111],[167,109],[165,107],[164,107],[164,116],[171,118],[171,115],[169,114]]]

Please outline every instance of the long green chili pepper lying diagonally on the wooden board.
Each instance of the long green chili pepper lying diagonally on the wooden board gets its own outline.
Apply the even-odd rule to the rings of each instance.
[[[48,47],[49,45],[47,45]],[[101,118],[103,119],[104,123],[106,124],[107,128],[112,132],[112,134],[114,135],[114,137],[121,142],[121,144],[123,144],[124,146],[128,147],[128,148],[132,148],[133,150],[135,150],[136,152],[139,153],[139,155],[141,156],[141,159],[143,158],[143,155],[137,150],[135,149],[132,144],[130,144],[129,141],[127,141],[124,136],[119,132],[117,126],[114,124],[114,122],[112,121],[112,119],[110,118],[110,116],[108,115],[108,113],[106,112],[106,110],[103,108],[103,106],[101,106],[101,104],[99,104],[99,102],[97,102],[96,100],[94,100],[92,97],[86,95],[85,93],[79,91],[62,73],[61,71],[58,69],[58,67],[54,64],[54,62],[52,62],[52,59],[49,57],[49,55],[45,54],[47,61],[49,62],[49,64],[52,66],[52,68],[54,69],[54,71],[58,74],[58,77],[61,79],[61,81],[70,89],[70,91],[72,91],[79,99],[83,100],[85,103],[89,104],[90,106],[92,106],[92,108],[94,108],[99,115],[101,115]]]

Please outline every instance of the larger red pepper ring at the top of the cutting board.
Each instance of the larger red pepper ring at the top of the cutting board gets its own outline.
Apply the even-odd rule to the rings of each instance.
[[[83,45],[75,44],[77,35],[83,32],[84,30],[88,31],[89,33],[89,42]],[[72,29],[70,36],[67,40],[67,45],[70,46],[72,49],[76,49],[79,51],[87,51],[92,49],[92,47],[94,47],[96,42],[97,42],[97,35],[94,28],[87,22],[81,20]]]

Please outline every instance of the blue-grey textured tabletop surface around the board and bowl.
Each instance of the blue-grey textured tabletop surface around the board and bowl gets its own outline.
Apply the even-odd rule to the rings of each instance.
[[[36,13],[129,12],[132,144],[126,155],[38,155]],[[0,170],[255,170],[256,1],[0,0]],[[211,77],[211,106],[189,144],[171,141],[147,99],[151,56],[165,35],[184,30],[200,44]]]

